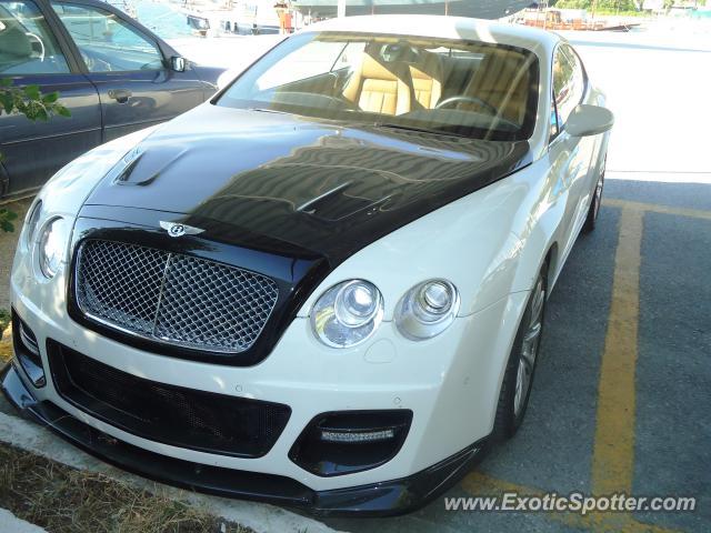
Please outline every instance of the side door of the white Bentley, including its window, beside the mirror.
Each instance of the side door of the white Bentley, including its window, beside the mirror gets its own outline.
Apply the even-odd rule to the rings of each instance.
[[[567,44],[555,49],[552,73],[552,117],[549,157],[554,172],[560,175],[567,191],[565,218],[563,221],[564,253],[578,237],[584,221],[587,200],[590,198],[590,161],[594,138],[572,137],[565,131],[570,113],[583,101],[587,79],[582,63]]]

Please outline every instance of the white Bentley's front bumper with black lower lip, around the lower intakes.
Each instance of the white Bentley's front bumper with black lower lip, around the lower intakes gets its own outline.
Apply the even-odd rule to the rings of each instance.
[[[259,364],[226,366],[148,352],[87,329],[67,313],[67,269],[42,281],[30,259],[20,247],[11,278],[12,308],[36,334],[46,372],[51,366],[48,343],[58,342],[142,380],[281,403],[291,416],[267,454],[240,457],[124,431],[68,402],[49,373],[46,385],[36,389],[21,371],[7,370],[3,389],[16,404],[92,453],[149,477],[317,513],[408,512],[465,472],[491,432],[527,298],[509,294],[458,318],[445,334],[425,342],[407,341],[392,322],[383,321],[371,340],[343,351],[319,343],[308,319],[298,316]],[[290,459],[304,428],[322,413],[379,410],[413,413],[402,447],[388,462],[324,477]]]

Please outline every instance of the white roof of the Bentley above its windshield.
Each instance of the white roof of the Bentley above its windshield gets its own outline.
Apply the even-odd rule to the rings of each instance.
[[[438,14],[343,17],[317,22],[301,31],[384,33],[461,39],[520,47],[532,50],[541,57],[551,57],[553,48],[561,41],[558,34],[538,28]]]

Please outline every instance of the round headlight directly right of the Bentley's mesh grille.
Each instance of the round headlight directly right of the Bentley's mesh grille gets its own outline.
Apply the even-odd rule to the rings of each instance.
[[[316,302],[311,326],[328,346],[353,346],[375,331],[382,313],[382,295],[375,285],[363,280],[344,281]]]

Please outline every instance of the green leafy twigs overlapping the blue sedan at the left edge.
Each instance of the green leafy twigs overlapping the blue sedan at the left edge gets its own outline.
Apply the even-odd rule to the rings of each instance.
[[[0,79],[0,115],[23,114],[28,120],[48,121],[51,117],[69,117],[69,110],[59,102],[58,92],[42,93],[38,86],[17,87],[9,78]],[[0,153],[2,161],[2,153]],[[14,231],[18,218],[9,209],[0,209],[0,231]]]

